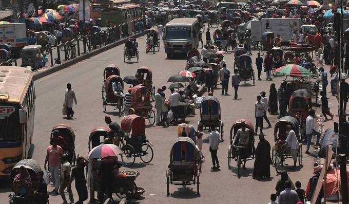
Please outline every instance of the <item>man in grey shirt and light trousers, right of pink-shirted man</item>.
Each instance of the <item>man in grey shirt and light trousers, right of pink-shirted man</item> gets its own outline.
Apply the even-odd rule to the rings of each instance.
[[[67,204],[67,199],[64,195],[64,190],[68,187],[69,184],[69,180],[70,180],[70,172],[71,172],[71,168],[70,168],[70,163],[67,161],[68,160],[68,156],[66,154],[63,154],[61,156],[61,177],[62,177],[62,181],[61,181],[61,185],[60,185],[60,194],[61,197],[63,199],[63,203],[62,204]],[[71,191],[71,189],[67,189],[67,192],[69,194],[69,200],[70,203],[74,203],[74,197],[73,197],[73,192]]]

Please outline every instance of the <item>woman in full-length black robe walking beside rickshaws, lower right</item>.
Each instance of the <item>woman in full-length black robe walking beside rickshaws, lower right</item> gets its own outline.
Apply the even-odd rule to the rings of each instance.
[[[270,157],[270,143],[264,138],[263,134],[259,134],[259,142],[256,148],[256,160],[252,178],[270,178],[271,163],[272,158]]]

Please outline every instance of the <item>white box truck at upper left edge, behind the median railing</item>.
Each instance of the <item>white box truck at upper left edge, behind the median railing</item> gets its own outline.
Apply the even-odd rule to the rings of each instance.
[[[21,57],[22,48],[27,45],[25,23],[0,25],[0,44],[11,43],[11,53]]]

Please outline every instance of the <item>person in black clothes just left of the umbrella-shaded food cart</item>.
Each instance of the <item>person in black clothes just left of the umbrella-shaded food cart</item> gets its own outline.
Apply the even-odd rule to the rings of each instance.
[[[86,187],[86,178],[85,178],[85,166],[89,161],[85,157],[78,157],[76,159],[76,166],[71,170],[71,176],[69,180],[68,190],[71,190],[71,182],[75,179],[75,189],[77,195],[79,195],[79,200],[74,204],[83,204],[87,200],[87,187]]]

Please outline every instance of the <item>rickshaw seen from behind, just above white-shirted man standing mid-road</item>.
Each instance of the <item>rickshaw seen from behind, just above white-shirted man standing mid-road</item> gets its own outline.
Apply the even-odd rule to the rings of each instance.
[[[209,131],[212,123],[218,127],[218,132],[221,134],[221,140],[223,141],[223,127],[224,123],[221,120],[221,106],[218,99],[214,96],[204,97],[200,105],[200,120],[198,126],[203,127],[203,131]]]

